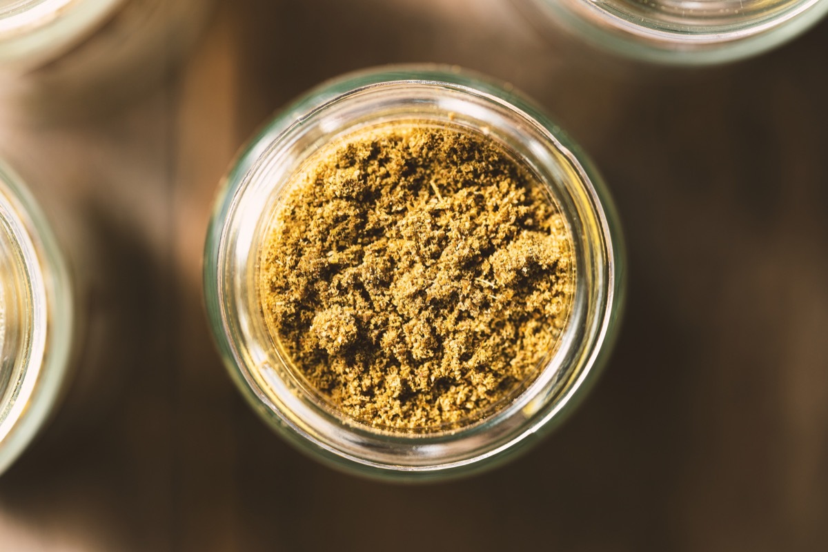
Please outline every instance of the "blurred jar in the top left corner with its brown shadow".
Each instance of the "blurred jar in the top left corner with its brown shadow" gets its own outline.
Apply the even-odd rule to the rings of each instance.
[[[12,113],[101,113],[174,70],[214,0],[0,0],[0,98]]]

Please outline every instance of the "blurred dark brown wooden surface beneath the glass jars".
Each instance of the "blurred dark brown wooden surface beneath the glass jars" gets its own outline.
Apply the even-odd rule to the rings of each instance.
[[[667,70],[549,40],[507,0],[219,3],[168,82],[105,116],[2,125],[32,189],[89,228],[79,382],[97,391],[70,389],[0,478],[0,550],[826,549],[828,22]],[[571,420],[427,487],[335,473],[272,434],[200,290],[216,185],[255,127],[323,79],[407,61],[507,79],[554,113],[614,192],[631,275]]]

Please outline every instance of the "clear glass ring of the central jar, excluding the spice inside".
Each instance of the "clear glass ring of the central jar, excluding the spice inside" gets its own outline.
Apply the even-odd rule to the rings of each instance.
[[[258,252],[288,178],[320,146],[394,121],[464,127],[525,161],[572,230],[570,321],[539,375],[474,425],[425,434],[360,424],[320,401],[269,336],[256,286]],[[623,247],[599,176],[561,129],[505,84],[435,66],[391,66],[310,91],[262,129],[229,170],[205,249],[205,300],[229,372],[267,422],[336,467],[380,478],[445,478],[490,467],[554,427],[609,351],[623,296]]]

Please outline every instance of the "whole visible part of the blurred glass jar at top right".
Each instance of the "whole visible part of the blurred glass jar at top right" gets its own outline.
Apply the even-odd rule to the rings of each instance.
[[[797,36],[828,0],[519,0],[594,46],[663,63],[715,64]]]

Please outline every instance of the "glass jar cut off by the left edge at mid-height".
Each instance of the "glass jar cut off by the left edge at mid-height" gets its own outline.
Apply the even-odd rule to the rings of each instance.
[[[41,210],[0,165],[0,473],[58,401],[73,343],[73,296]]]

